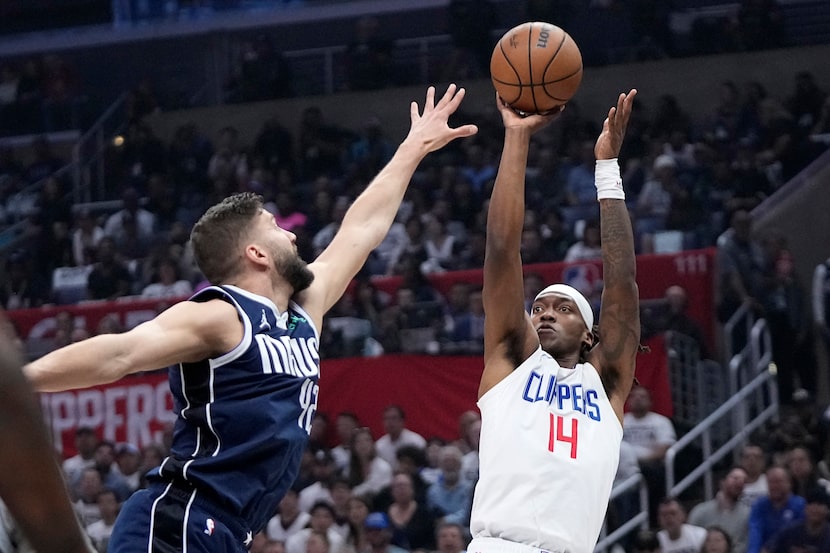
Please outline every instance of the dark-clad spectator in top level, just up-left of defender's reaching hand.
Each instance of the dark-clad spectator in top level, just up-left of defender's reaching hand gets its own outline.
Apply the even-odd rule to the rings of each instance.
[[[348,89],[375,90],[395,84],[394,48],[394,43],[382,36],[380,20],[360,17],[345,52]]]

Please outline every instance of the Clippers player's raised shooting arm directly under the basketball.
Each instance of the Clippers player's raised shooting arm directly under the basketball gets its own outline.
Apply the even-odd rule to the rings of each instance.
[[[520,254],[525,215],[525,169],[530,137],[553,115],[520,117],[500,98],[504,147],[487,212],[484,257],[484,372],[478,395],[498,384],[539,346],[524,309]]]

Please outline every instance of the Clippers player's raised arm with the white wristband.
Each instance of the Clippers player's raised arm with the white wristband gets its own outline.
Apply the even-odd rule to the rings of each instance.
[[[599,345],[591,352],[590,359],[600,372],[620,420],[634,382],[640,347],[634,233],[617,165],[636,95],[637,91],[633,89],[628,94],[620,94],[617,105],[608,111],[594,147],[604,287],[599,314]]]

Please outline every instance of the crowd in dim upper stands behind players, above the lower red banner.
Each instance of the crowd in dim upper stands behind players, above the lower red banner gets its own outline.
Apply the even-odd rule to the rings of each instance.
[[[804,71],[792,75],[783,98],[767,95],[757,82],[723,82],[713,92],[718,100],[711,112],[694,119],[671,95],[636,106],[621,159],[637,252],[715,246],[735,227],[717,244],[722,320],[743,303],[758,313],[786,312],[775,318],[774,347],[782,373],[795,374],[800,364],[785,354],[810,338],[796,325],[810,296],[795,285],[786,240],[769,235],[747,242],[746,218],[826,149],[812,137],[830,128],[830,100]],[[346,129],[313,105],[293,132],[276,116],[266,119],[250,144],[241,143],[233,126],[206,136],[195,123],[165,143],[141,118],[147,113],[141,106],[152,101],[136,104],[123,141],[107,152],[113,202],[73,205],[68,177],[56,173],[67,160],[44,137],[26,163],[11,148],[0,152],[0,220],[23,227],[22,240],[4,259],[3,308],[186,297],[205,284],[189,249],[190,227],[207,206],[237,191],[262,194],[277,221],[297,235],[301,255],[313,259],[394,148],[377,118]],[[402,332],[422,329],[423,339],[415,340],[422,352],[481,351],[480,290],[461,283],[445,296],[430,277],[483,265],[487,198],[500,148],[497,116],[494,110],[463,114],[479,125],[476,139],[451,145],[416,172],[388,237],[353,293],[327,317],[332,332],[325,333],[324,355],[401,351],[402,342],[411,342]],[[598,258],[595,126],[574,102],[534,137],[522,235],[526,264]],[[36,182],[43,185],[32,188]],[[392,294],[376,286],[376,279],[390,276],[401,279]],[[346,324],[355,320],[357,326]],[[801,380],[811,389],[809,377]]]

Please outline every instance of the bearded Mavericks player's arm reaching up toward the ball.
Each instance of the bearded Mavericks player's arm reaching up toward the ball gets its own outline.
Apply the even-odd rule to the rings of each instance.
[[[318,324],[343,295],[369,253],[386,236],[421,160],[456,138],[478,132],[475,125],[453,129],[447,124],[464,94],[463,88],[451,84],[436,104],[435,88],[429,87],[423,114],[419,113],[416,102],[410,105],[409,134],[386,167],[346,212],[331,244],[309,265],[314,273],[314,283],[299,300]]]

